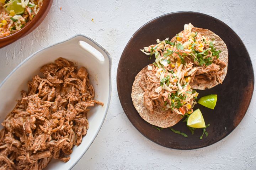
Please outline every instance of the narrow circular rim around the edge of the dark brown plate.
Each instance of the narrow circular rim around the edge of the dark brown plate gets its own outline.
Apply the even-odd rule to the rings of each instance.
[[[120,57],[120,59],[119,59],[119,63],[118,63],[118,67],[117,67],[117,75],[116,75],[116,77],[117,77],[117,82],[116,82],[116,83],[117,83],[118,98],[119,98],[119,100],[120,100],[120,103],[121,103],[121,106],[122,106],[122,109],[123,109],[124,113],[126,114],[126,116],[127,116],[127,118],[129,119],[130,123],[132,123],[132,125],[135,127],[135,129],[137,129],[137,130],[140,132],[140,134],[142,134],[142,135],[143,135],[145,138],[147,138],[149,141],[154,142],[154,143],[156,143],[157,145],[163,146],[163,147],[165,147],[165,148],[176,149],[176,150],[182,150],[182,151],[188,151],[188,150],[201,149],[201,148],[205,148],[205,147],[214,145],[215,143],[218,143],[218,142],[222,141],[225,137],[229,136],[229,135],[238,127],[238,125],[241,123],[242,119],[245,117],[245,114],[247,113],[247,111],[248,111],[248,109],[249,109],[249,107],[250,107],[250,105],[251,105],[251,100],[252,100],[252,96],[253,96],[253,92],[254,92],[255,78],[254,78],[254,69],[253,69],[253,65],[252,65],[252,82],[253,82],[253,84],[252,84],[252,85],[253,85],[253,86],[252,86],[252,95],[251,95],[251,97],[250,97],[250,99],[249,99],[249,103],[247,104],[247,107],[246,107],[246,109],[245,109],[245,111],[244,111],[245,113],[244,113],[243,117],[241,118],[241,121],[238,123],[238,125],[236,125],[236,127],[235,127],[233,130],[231,130],[226,136],[224,136],[223,138],[220,138],[219,140],[215,141],[214,143],[210,143],[210,145],[206,145],[206,146],[202,146],[202,147],[196,147],[196,148],[174,148],[174,147],[167,147],[167,146],[165,146],[165,145],[162,145],[161,143],[158,143],[158,142],[154,141],[153,139],[151,139],[150,137],[146,136],[137,126],[135,126],[135,124],[134,124],[133,121],[131,120],[132,118],[127,114],[128,111],[126,110],[126,108],[125,108],[123,102],[121,102],[121,100],[122,100],[122,97],[121,97],[121,96],[122,96],[122,95],[121,95],[120,88],[119,88],[119,86],[120,86],[120,84],[119,84],[119,83],[120,83],[120,80],[118,80],[118,75],[121,74],[120,71],[119,71],[119,69],[121,69],[121,68],[119,67],[119,66],[120,66],[120,60],[121,60],[121,58],[123,57],[124,52],[125,52],[125,50],[126,50],[128,44],[132,41],[133,37],[134,37],[135,35],[137,35],[138,32],[139,32],[144,26],[146,26],[146,25],[149,24],[149,23],[152,23],[152,22],[156,21],[157,19],[159,19],[159,18],[161,18],[161,17],[168,16],[168,15],[171,15],[171,14],[176,14],[176,13],[181,13],[181,14],[182,14],[182,13],[194,13],[194,14],[198,14],[198,15],[202,15],[202,16],[207,16],[207,17],[209,17],[209,18],[211,18],[211,19],[214,19],[214,20],[216,20],[216,21],[218,21],[218,22],[220,22],[220,23],[226,25],[226,26],[234,33],[234,35],[242,42],[242,44],[244,45],[245,50],[246,50],[246,52],[248,53],[248,56],[249,56],[249,61],[250,61],[251,63],[252,63],[252,60],[251,60],[251,57],[250,57],[250,53],[248,52],[247,47],[245,46],[244,42],[243,42],[242,39],[239,37],[239,35],[236,34],[236,32],[235,32],[231,27],[228,26],[228,24],[224,23],[224,22],[221,21],[220,19],[215,18],[215,17],[213,17],[213,16],[211,16],[211,15],[207,15],[207,14],[205,14],[205,13],[196,12],[196,11],[175,11],[175,12],[169,12],[169,13],[165,13],[165,14],[163,14],[163,15],[160,15],[160,16],[158,16],[158,17],[155,17],[155,18],[153,18],[153,19],[150,19],[148,22],[144,23],[141,27],[139,27],[139,28],[134,32],[134,34],[131,36],[131,38],[128,40],[128,42],[127,42],[126,46],[124,47],[124,50],[123,50],[123,52],[122,52],[122,54],[121,54],[121,57]]]

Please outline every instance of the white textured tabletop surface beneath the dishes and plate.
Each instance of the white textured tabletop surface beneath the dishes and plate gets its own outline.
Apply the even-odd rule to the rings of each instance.
[[[32,53],[78,33],[89,35],[112,55],[112,98],[105,123],[80,169],[256,169],[256,96],[228,137],[192,151],[161,147],[141,135],[123,112],[116,90],[121,53],[144,23],[174,11],[197,11],[228,24],[244,41],[256,68],[256,1],[55,0],[49,15],[31,34],[0,49],[0,81]],[[201,4],[198,4],[201,3]],[[62,7],[62,10],[60,10]],[[94,18],[94,22],[91,19]],[[50,56],[46,56],[50,57]]]

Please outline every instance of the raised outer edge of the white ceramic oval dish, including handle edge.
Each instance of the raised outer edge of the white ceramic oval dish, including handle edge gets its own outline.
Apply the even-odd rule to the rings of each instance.
[[[82,154],[80,155],[80,157],[79,157],[78,159],[76,159],[76,161],[74,161],[74,163],[73,163],[71,166],[66,167],[66,168],[69,169],[69,170],[72,169],[72,168],[75,166],[76,163],[78,163],[78,161],[81,159],[81,157],[85,154],[85,152],[86,152],[86,151],[89,149],[89,147],[92,145],[92,143],[94,142],[95,138],[97,137],[97,135],[98,135],[98,133],[99,133],[99,131],[100,131],[102,125],[103,125],[103,122],[104,122],[104,120],[105,120],[105,118],[106,118],[106,114],[107,114],[107,111],[108,111],[108,108],[109,108],[109,105],[110,105],[110,99],[111,99],[111,64],[112,64],[112,59],[111,59],[110,53],[108,53],[108,51],[107,51],[106,49],[104,49],[100,44],[98,44],[95,40],[91,39],[89,36],[86,36],[86,35],[84,35],[84,34],[77,34],[77,35],[74,35],[74,36],[72,36],[71,38],[69,38],[69,39],[67,39],[67,40],[60,41],[60,42],[58,42],[58,43],[56,43],[56,44],[50,45],[50,46],[48,46],[48,47],[46,47],[46,48],[44,48],[44,49],[41,49],[41,50],[39,50],[39,51],[33,53],[31,56],[27,57],[24,61],[22,61],[14,70],[12,70],[12,72],[11,72],[11,73],[2,81],[2,83],[0,84],[0,89],[1,89],[1,87],[6,83],[6,81],[11,77],[11,75],[12,75],[13,73],[15,73],[18,68],[20,68],[24,63],[26,63],[28,60],[30,60],[33,56],[36,56],[38,53],[40,53],[40,52],[42,52],[42,51],[44,51],[44,50],[46,50],[46,49],[49,49],[49,48],[51,48],[51,47],[53,47],[53,46],[55,46],[55,45],[62,44],[62,43],[64,43],[64,42],[66,42],[66,41],[75,39],[75,38],[77,38],[77,37],[79,37],[79,36],[82,38],[81,40],[85,40],[85,42],[87,42],[88,44],[90,44],[92,47],[94,47],[94,48],[96,48],[96,49],[98,48],[98,49],[102,50],[101,53],[103,52],[103,53],[108,57],[108,61],[109,61],[109,63],[108,63],[108,64],[109,64],[109,74],[108,74],[108,75],[109,75],[109,93],[108,93],[108,101],[107,101],[107,103],[104,103],[104,104],[107,104],[107,105],[106,105],[106,110],[105,110],[103,119],[102,119],[102,121],[101,121],[101,123],[100,123],[100,126],[98,127],[98,129],[97,129],[97,131],[96,131],[94,137],[92,138],[91,142],[90,142],[89,145],[86,147],[86,149],[84,150],[84,152],[82,152]],[[103,53],[102,53],[102,55],[104,56]],[[105,60],[106,60],[106,59],[105,59]],[[1,128],[0,128],[0,129],[1,129]],[[90,129],[90,128],[89,128],[89,129]]]

